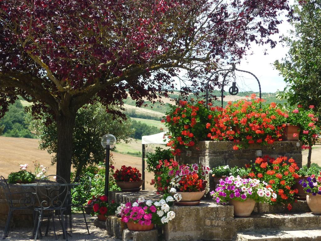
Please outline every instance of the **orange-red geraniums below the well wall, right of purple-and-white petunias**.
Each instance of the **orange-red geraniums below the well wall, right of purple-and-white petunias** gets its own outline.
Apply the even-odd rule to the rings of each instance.
[[[268,183],[267,187],[273,190],[278,190],[275,202],[285,203],[287,208],[291,210],[294,194],[298,193],[298,190],[292,190],[291,186],[295,183],[294,179],[298,177],[296,173],[298,170],[299,167],[293,158],[288,159],[286,156],[280,156],[274,159],[264,156],[256,158],[249,176]]]

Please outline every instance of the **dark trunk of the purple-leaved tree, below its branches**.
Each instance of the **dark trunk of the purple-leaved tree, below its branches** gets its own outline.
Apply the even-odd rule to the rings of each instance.
[[[76,115],[57,117],[57,166],[56,174],[70,183],[71,157],[73,155],[73,132]]]

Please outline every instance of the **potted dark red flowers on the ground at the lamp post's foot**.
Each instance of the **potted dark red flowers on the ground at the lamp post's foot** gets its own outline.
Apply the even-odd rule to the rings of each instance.
[[[97,215],[100,221],[106,221],[107,216],[113,215],[117,208],[115,201],[111,201],[111,204],[108,204],[106,195],[93,196],[88,203],[92,205],[91,216]]]

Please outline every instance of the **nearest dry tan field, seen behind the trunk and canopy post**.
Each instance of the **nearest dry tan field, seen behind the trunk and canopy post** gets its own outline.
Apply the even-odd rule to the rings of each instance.
[[[140,143],[138,144],[140,147]],[[308,151],[302,152],[303,164],[307,163]],[[114,155],[114,165],[116,168],[120,168],[122,165],[130,165],[137,167],[142,171],[142,158],[136,156],[129,156],[120,154],[117,152]],[[33,161],[39,161],[41,165],[48,166],[48,174],[56,173],[56,166],[51,165],[51,156],[47,151],[38,149],[38,140],[29,138],[12,138],[0,136],[0,175],[5,178],[11,172],[19,171],[19,164],[29,164],[29,171],[34,172]],[[313,163],[317,163],[321,166],[321,145],[316,145],[312,149]],[[153,174],[145,173],[145,180],[150,182]],[[152,190],[153,187],[146,184],[146,189]]]

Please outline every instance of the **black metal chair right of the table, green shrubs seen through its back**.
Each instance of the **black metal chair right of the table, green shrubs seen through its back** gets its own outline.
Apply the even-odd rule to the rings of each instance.
[[[83,219],[85,220],[86,228],[88,235],[90,235],[85,211],[83,208],[83,205],[86,203],[86,200],[90,196],[91,191],[91,177],[89,175],[83,175],[79,176],[74,180],[74,183],[79,183],[79,186],[74,186],[74,188],[71,190],[70,197],[72,198],[71,201],[68,202],[68,209],[66,211],[66,227],[67,227],[67,219],[69,214],[69,230],[72,232],[72,215],[71,215],[71,208],[78,208],[82,210]]]

